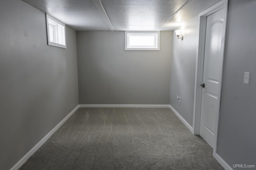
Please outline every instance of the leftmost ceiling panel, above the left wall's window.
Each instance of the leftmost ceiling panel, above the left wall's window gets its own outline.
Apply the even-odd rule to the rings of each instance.
[[[92,0],[23,0],[77,31],[109,31]]]

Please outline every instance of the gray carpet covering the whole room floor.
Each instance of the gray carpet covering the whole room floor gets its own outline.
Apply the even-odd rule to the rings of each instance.
[[[20,170],[222,170],[169,108],[79,108]]]

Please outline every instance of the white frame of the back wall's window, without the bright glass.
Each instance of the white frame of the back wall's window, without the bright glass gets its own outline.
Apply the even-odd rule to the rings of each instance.
[[[131,36],[154,36],[154,45],[141,45],[141,46],[132,46],[130,45]],[[160,31],[125,31],[125,47],[124,50],[131,51],[160,51]]]

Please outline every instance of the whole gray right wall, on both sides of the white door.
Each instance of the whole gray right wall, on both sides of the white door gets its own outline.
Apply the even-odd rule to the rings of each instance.
[[[233,164],[256,165],[255,8],[256,1],[230,0],[217,154],[231,168]],[[191,126],[198,21],[195,17],[179,28],[187,31],[183,41],[175,35],[172,38],[170,105]],[[250,72],[249,85],[243,83],[244,72]],[[181,102],[177,95],[181,96]]]

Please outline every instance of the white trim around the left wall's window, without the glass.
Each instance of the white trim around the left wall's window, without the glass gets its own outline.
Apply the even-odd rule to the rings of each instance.
[[[56,20],[52,16],[49,16],[48,14],[46,14],[45,18],[46,18],[46,29],[47,29],[47,44],[51,45],[51,46],[61,47],[61,48],[66,49],[66,25],[64,23],[62,23],[61,21]],[[58,44],[58,43],[54,43],[54,42],[50,41],[49,26],[48,26],[49,25],[49,20],[48,19],[50,19],[50,20],[54,21],[56,24],[60,24],[60,25],[62,25],[64,27],[64,41],[65,41],[64,45]],[[52,25],[54,26],[55,24],[53,23]],[[56,38],[56,35],[54,37]]]

